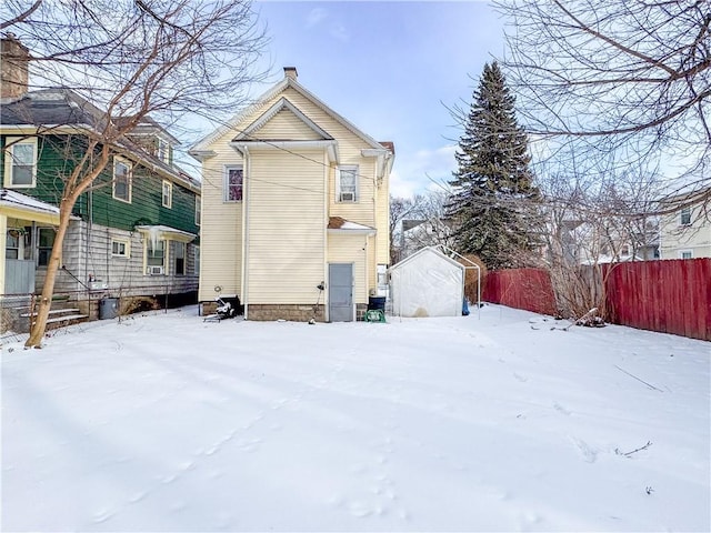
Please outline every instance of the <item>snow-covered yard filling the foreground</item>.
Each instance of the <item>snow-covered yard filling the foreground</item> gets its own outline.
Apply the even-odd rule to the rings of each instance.
[[[709,531],[711,344],[488,305],[2,346],[3,531]]]

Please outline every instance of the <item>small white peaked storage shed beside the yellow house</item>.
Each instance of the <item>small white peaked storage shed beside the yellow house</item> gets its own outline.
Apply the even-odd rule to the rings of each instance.
[[[423,248],[390,268],[395,316],[461,316],[464,265],[435,247]]]

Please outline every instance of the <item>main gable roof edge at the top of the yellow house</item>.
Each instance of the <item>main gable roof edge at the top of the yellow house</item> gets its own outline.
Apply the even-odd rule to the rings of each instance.
[[[322,109],[327,114],[333,118],[337,122],[348,129],[351,133],[356,134],[359,139],[365,142],[370,148],[380,149],[380,150],[389,150],[390,147],[384,147],[383,144],[375,141],[372,137],[368,135],[363,131],[359,130],[352,122],[347,120],[346,118],[338,114],[331,108],[329,108],[323,101],[317,98],[312,92],[308,91],[301,83],[299,83],[296,79],[290,76],[284,76],[284,78],[277,83],[274,87],[264,92],[261,97],[257,99],[257,102],[247,107],[242,111],[238,112],[234,117],[232,117],[227,124],[217,128],[211,133],[203,137],[197,143],[194,143],[188,153],[196,157],[200,152],[204,152],[208,150],[208,147],[217,141],[220,137],[227,134],[230,131],[236,131],[239,134],[244,134],[247,130],[239,130],[237,127],[240,122],[242,122],[247,117],[256,113],[260,108],[264,107],[267,102],[274,99],[280,93],[287,91],[287,89],[293,89],[299,94],[304,97],[307,100],[311,101],[314,105]],[[286,100],[286,99],[284,99]],[[272,108],[267,110],[269,112]],[[249,133],[247,133],[249,135]]]

